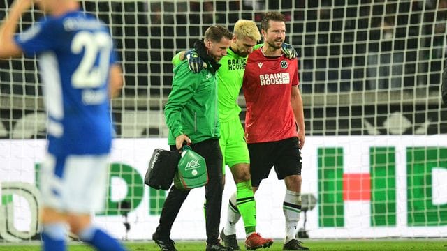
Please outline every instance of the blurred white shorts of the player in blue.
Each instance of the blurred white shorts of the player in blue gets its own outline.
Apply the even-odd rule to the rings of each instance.
[[[45,156],[39,176],[43,205],[61,212],[103,211],[110,155]]]

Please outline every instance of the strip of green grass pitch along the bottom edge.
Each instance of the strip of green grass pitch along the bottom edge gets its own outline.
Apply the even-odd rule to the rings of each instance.
[[[304,245],[312,251],[399,251],[399,250],[423,250],[423,251],[447,251],[447,239],[358,239],[358,240],[315,240],[305,239]],[[245,250],[244,243],[240,241],[240,247]],[[126,242],[129,251],[157,251],[158,246],[153,242]],[[179,251],[205,250],[205,241],[179,241],[175,243]],[[40,243],[12,244],[0,243],[0,251],[38,251]],[[258,251],[282,250],[282,240],[275,240],[270,248],[261,248]],[[94,251],[93,248],[82,243],[69,243],[68,251]]]

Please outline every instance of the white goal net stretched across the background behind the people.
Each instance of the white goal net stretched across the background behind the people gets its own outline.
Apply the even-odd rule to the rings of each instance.
[[[12,0],[0,0],[0,18]],[[166,192],[142,184],[150,155],[167,148],[170,60],[212,24],[286,16],[299,54],[307,141],[300,235],[310,238],[446,237],[447,109],[444,0],[81,1],[109,24],[124,71],[112,100],[115,140],[107,210],[98,224],[122,239],[150,239]],[[22,17],[19,31],[43,13]],[[36,177],[46,114],[34,58],[0,61],[0,241],[38,238]],[[244,98],[238,100],[244,121]],[[227,167],[227,174],[230,173]],[[256,193],[258,231],[283,238],[283,182]],[[226,177],[221,222],[235,191]],[[203,189],[191,191],[171,238],[205,238]],[[128,226],[130,226],[128,228]],[[243,236],[242,223],[238,225]],[[189,229],[185,232],[184,229]]]

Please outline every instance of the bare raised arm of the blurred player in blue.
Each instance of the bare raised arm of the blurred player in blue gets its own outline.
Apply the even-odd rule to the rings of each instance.
[[[21,56],[22,49],[15,43],[14,35],[17,31],[22,13],[29,10],[32,6],[31,0],[17,0],[11,6],[8,15],[6,15],[0,26],[0,59],[7,59],[10,56]]]

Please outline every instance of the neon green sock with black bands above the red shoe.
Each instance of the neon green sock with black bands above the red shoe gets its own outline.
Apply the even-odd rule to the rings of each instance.
[[[236,184],[237,209],[244,221],[245,234],[256,231],[256,201],[254,200],[251,181],[243,181]]]

